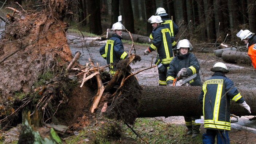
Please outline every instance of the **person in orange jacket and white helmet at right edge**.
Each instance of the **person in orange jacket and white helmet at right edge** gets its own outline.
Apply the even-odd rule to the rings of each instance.
[[[237,34],[237,37],[247,45],[247,55],[251,57],[252,65],[256,69],[256,35],[250,32],[248,29],[241,29]]]

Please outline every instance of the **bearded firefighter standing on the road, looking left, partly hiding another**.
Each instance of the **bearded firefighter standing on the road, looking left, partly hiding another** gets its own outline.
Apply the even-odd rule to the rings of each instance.
[[[160,16],[151,16],[148,23],[152,23],[154,38],[150,47],[144,51],[144,55],[157,50],[155,64],[158,67],[159,85],[166,86],[166,72],[173,59],[172,47],[176,47],[176,41],[171,36],[171,31],[161,24],[163,21]]]

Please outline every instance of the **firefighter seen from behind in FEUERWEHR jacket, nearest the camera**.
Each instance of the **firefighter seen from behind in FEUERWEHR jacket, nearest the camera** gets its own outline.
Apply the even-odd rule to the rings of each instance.
[[[211,71],[214,74],[204,81],[199,102],[203,105],[204,128],[203,144],[215,144],[217,135],[218,144],[229,144],[228,132],[231,130],[230,101],[233,100],[251,113],[251,108],[245,102],[232,80],[225,76],[228,73],[224,63],[216,63]]]

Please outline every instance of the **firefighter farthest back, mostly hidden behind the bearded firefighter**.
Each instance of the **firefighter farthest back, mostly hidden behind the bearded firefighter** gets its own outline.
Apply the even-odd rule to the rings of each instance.
[[[169,19],[165,9],[157,8],[156,15],[161,16],[161,19],[164,21],[164,26],[170,29],[172,36],[175,37],[175,35],[177,35],[177,33],[179,32],[178,26],[174,23],[173,20]]]

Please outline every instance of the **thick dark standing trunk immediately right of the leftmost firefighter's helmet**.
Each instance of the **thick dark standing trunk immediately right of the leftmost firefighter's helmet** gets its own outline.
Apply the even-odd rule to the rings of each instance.
[[[123,2],[123,10],[124,10],[124,13],[122,16],[122,23],[129,32],[134,33],[134,20],[133,20],[131,0],[122,0],[122,2]]]

